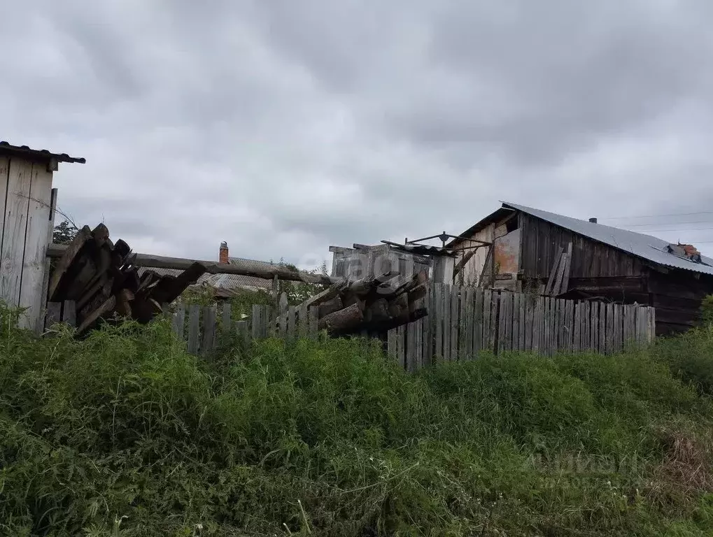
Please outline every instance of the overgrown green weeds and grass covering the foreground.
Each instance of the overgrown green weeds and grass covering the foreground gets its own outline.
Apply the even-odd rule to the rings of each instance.
[[[406,375],[364,340],[187,355],[0,310],[0,534],[709,536],[713,330]]]

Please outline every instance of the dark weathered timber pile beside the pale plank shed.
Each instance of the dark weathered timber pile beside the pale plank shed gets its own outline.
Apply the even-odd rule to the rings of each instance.
[[[104,224],[84,226],[61,254],[48,287],[48,301],[74,301],[78,333],[115,314],[148,323],[163,312],[162,304],[178,298],[205,272],[191,264],[178,276],[146,271],[138,276],[135,257],[128,244],[114,244]]]

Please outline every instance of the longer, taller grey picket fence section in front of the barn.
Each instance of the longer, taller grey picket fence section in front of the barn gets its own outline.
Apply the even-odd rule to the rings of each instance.
[[[655,338],[655,309],[432,283],[429,315],[389,331],[389,355],[406,370],[478,353],[617,353]]]

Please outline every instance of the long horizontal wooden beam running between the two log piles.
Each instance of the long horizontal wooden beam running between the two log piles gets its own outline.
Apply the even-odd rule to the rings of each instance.
[[[49,257],[61,257],[66,250],[64,244],[51,244],[47,249]],[[154,256],[151,254],[135,254],[133,262],[135,266],[144,266],[152,269],[177,269],[188,270],[194,263],[205,266],[205,271],[209,274],[237,274],[239,276],[254,276],[272,280],[277,276],[284,281],[302,281],[304,283],[322,283],[332,285],[343,281],[343,278],[324,276],[322,274],[311,274],[303,271],[293,271],[284,266],[273,265],[265,268],[253,266],[252,264],[232,261],[230,264],[218,263],[217,261],[200,261],[194,259],[183,259],[178,257]]]

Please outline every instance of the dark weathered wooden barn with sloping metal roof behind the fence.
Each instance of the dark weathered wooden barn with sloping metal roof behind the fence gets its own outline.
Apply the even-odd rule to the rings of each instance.
[[[454,283],[656,308],[656,333],[691,328],[713,259],[688,244],[503,203],[453,239]]]

